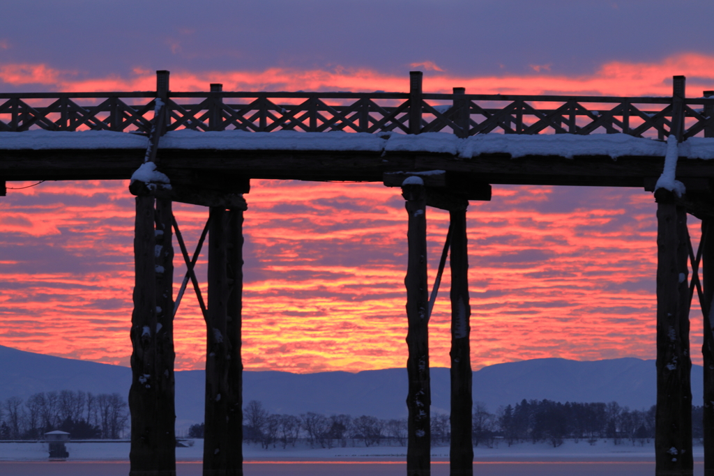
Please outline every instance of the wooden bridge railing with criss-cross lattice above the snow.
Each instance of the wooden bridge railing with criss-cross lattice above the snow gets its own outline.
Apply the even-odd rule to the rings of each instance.
[[[155,98],[155,91],[0,93],[0,131],[146,134]],[[663,139],[673,124],[671,97],[466,94],[458,88],[451,94],[169,92],[166,107],[167,131],[626,133]],[[683,139],[714,135],[714,97],[684,98],[682,111]]]

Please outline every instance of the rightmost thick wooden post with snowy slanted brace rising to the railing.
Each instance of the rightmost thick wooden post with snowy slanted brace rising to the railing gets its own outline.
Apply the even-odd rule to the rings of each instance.
[[[687,212],[676,200],[685,192],[675,180],[683,133],[684,77],[675,76],[672,128],[657,201],[657,413],[655,474],[693,474],[692,392],[689,355]]]

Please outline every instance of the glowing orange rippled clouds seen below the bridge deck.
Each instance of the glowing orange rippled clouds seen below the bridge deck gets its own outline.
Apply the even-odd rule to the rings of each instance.
[[[253,181],[246,198],[246,368],[403,366],[406,212],[398,190]],[[0,205],[11,218],[0,221],[0,342],[128,365],[134,200],[126,182],[48,182],[10,191]],[[174,210],[192,247],[207,211]],[[472,202],[468,217],[474,368],[541,357],[653,358],[650,193],[499,186],[491,202]],[[427,219],[433,282],[448,213],[429,208]],[[696,228],[694,221],[695,238]],[[176,253],[175,290],[185,270]],[[205,255],[197,273],[205,292]],[[447,270],[430,323],[435,366],[449,363],[449,284]],[[702,326],[695,309],[693,349]],[[191,293],[175,328],[177,368],[202,368],[206,330]]]

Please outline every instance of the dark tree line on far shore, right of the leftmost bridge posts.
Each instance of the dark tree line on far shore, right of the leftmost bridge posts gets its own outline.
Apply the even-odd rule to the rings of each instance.
[[[516,442],[548,442],[554,447],[566,439],[585,440],[594,445],[600,439],[615,445],[629,442],[644,445],[654,438],[655,406],[648,410],[630,410],[617,402],[578,403],[551,400],[522,400],[515,406],[488,412],[476,402],[472,411],[473,444],[493,447],[498,441],[508,446]],[[693,436],[703,437],[703,407],[692,408]],[[204,425],[192,425],[188,436],[203,437]],[[449,416],[432,412],[431,440],[443,445],[451,438]],[[273,414],[257,400],[243,409],[243,440],[270,447],[295,446],[298,440],[311,447],[347,445],[406,445],[407,420],[382,420],[369,415]]]

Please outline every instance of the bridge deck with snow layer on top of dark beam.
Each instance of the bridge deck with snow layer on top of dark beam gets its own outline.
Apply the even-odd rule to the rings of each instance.
[[[148,139],[111,131],[0,133],[6,180],[129,178]],[[662,172],[666,144],[626,134],[576,136],[449,133],[172,131],[159,143],[161,171],[195,181],[214,173],[244,178],[382,181],[383,173],[445,170],[486,183],[646,187]],[[708,188],[714,138],[680,144],[678,178]]]

